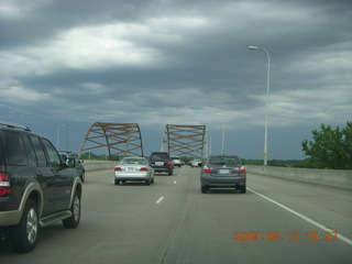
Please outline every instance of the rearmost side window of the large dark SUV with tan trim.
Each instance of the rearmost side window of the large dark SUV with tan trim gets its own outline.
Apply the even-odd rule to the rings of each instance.
[[[8,165],[28,165],[26,151],[20,133],[2,131],[2,150],[4,158],[2,163]]]

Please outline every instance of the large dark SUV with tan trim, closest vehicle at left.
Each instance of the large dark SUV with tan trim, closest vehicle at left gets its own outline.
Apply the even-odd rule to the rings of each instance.
[[[24,125],[0,121],[0,240],[34,249],[38,230],[56,221],[77,228],[81,180],[53,144]]]

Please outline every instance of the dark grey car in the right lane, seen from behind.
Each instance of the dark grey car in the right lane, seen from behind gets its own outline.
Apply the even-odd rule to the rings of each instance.
[[[200,189],[205,194],[209,188],[235,188],[246,191],[246,172],[237,155],[210,155],[200,172]]]

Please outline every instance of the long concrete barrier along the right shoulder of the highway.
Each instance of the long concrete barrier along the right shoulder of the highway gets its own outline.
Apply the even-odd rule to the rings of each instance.
[[[248,173],[352,189],[352,170],[245,165]]]

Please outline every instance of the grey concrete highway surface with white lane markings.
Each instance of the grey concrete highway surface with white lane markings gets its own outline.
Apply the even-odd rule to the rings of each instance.
[[[248,174],[248,193],[201,194],[199,168],[155,184],[86,174],[81,222],[41,230],[34,252],[0,249],[1,263],[352,263],[352,193]]]

